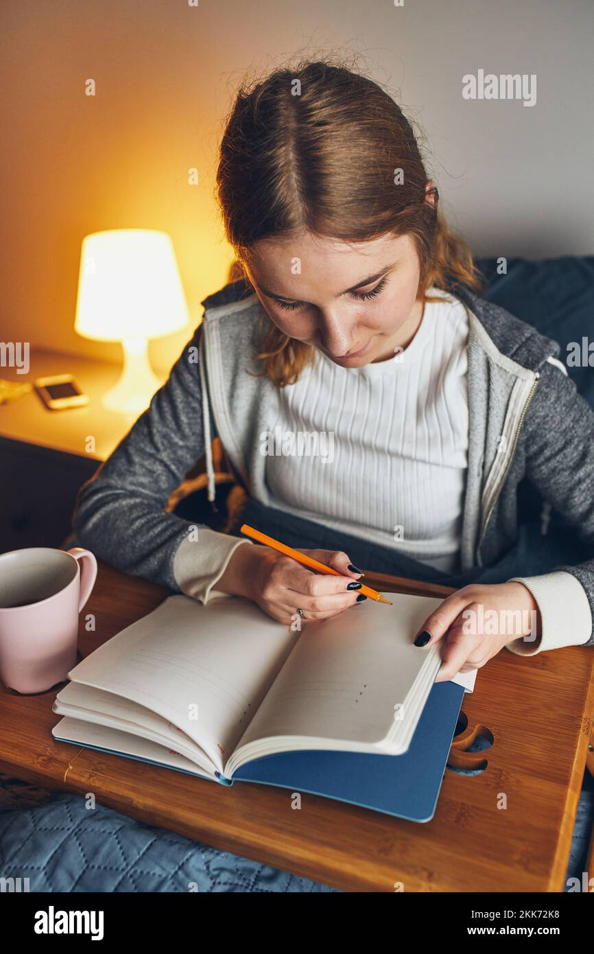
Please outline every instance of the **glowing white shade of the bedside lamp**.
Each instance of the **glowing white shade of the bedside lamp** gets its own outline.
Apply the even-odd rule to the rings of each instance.
[[[159,338],[190,321],[166,232],[113,229],[83,239],[74,330],[99,342]]]

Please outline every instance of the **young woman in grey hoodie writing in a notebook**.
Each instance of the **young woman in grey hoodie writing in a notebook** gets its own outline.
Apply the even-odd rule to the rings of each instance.
[[[82,488],[78,541],[283,623],[360,603],[357,565],[450,583],[415,640],[443,641],[440,680],[504,646],[592,644],[594,414],[559,344],[472,292],[394,100],[323,62],[243,88],[217,196],[241,277],[203,302],[169,381]],[[204,452],[215,500],[215,435],[241,519],[339,576],[166,511]],[[523,478],[575,530],[562,549],[522,536]]]

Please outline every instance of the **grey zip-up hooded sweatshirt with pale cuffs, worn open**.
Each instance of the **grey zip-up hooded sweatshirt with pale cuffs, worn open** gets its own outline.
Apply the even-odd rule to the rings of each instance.
[[[594,633],[594,411],[559,361],[560,345],[499,305],[458,288],[468,334],[468,468],[461,570],[494,563],[515,542],[517,488],[525,476],[593,558],[520,580],[541,612],[542,637],[514,639],[520,654],[592,645]],[[236,481],[273,506],[259,435],[270,429],[275,384],[256,377],[262,305],[242,280],[202,304],[205,312],[150,408],[80,492],[78,542],[119,570],[207,603],[244,537],[167,512],[169,498],[206,454],[215,501],[212,441],[221,440]],[[298,514],[297,514],[298,515]]]

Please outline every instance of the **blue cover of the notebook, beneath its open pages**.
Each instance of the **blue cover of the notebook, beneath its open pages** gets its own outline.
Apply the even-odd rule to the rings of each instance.
[[[308,749],[256,758],[237,769],[232,779],[222,778],[217,773],[218,780],[227,786],[235,781],[277,785],[295,792],[346,801],[400,819],[430,821],[435,815],[463,696],[463,687],[458,683],[434,683],[411,743],[401,756]],[[57,728],[55,726],[52,733],[54,738],[72,745],[82,744],[68,738],[60,739],[55,735]],[[85,748],[152,765],[162,764],[152,758],[129,756],[88,743],[85,743]],[[167,768],[201,778],[184,769]]]

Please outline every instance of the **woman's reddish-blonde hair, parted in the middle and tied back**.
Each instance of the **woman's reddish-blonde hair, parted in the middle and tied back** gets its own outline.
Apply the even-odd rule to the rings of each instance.
[[[248,288],[254,243],[306,229],[354,244],[409,235],[420,259],[418,298],[437,301],[426,294],[434,285],[481,292],[468,244],[440,213],[411,123],[376,82],[344,66],[305,61],[242,83],[221,138],[216,197],[236,252],[233,276]],[[265,312],[259,332],[260,375],[295,384],[314,346],[285,335]]]

